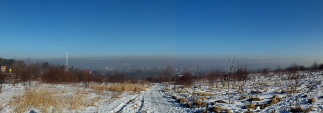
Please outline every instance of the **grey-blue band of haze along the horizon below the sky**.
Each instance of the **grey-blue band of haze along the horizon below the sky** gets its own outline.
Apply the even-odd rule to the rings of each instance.
[[[235,56],[235,63],[249,64],[249,69],[256,70],[260,68],[269,68],[274,70],[277,66],[282,69],[291,66],[295,62],[305,67],[311,66],[311,64],[321,57],[303,57],[303,58],[272,58],[272,57],[241,57]],[[158,66],[208,66],[212,69],[223,69],[229,66],[229,59],[232,61],[232,57],[166,57],[166,56],[124,56],[124,57],[70,57],[69,67],[84,68],[84,67],[109,67],[109,66],[122,66],[130,65],[136,67],[158,67]],[[20,59],[27,62],[28,59]],[[29,58],[29,64],[36,62],[48,62],[53,65],[65,65],[65,58],[56,59],[32,59]],[[297,61],[296,61],[297,60]],[[319,64],[322,61],[316,60]]]

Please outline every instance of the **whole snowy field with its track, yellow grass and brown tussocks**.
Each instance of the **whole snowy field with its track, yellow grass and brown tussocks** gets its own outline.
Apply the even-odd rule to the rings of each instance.
[[[237,87],[230,87],[231,104],[225,84],[216,83],[211,89],[207,80],[191,87],[176,85],[175,89],[172,83],[144,84],[144,89],[133,91],[100,90],[101,85],[96,83],[90,83],[87,88],[81,83],[3,84],[0,112],[291,112],[297,106],[302,112],[323,112],[323,72],[299,74],[304,78],[294,93],[288,93],[286,74],[252,74],[253,79],[245,86],[246,98],[240,98]],[[26,99],[26,94],[39,101],[32,104],[34,101]],[[277,95],[275,102],[274,95]],[[260,100],[248,100],[256,97]],[[315,101],[309,103],[310,98]]]

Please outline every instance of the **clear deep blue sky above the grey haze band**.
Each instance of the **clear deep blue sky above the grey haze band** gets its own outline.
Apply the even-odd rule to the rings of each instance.
[[[323,1],[1,0],[0,57],[317,57],[322,20]]]

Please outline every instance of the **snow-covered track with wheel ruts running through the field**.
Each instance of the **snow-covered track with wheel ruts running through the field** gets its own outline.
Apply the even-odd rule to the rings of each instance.
[[[167,96],[163,92],[164,88],[164,84],[156,84],[122,105],[123,107],[118,112],[191,112],[189,108],[183,107]]]

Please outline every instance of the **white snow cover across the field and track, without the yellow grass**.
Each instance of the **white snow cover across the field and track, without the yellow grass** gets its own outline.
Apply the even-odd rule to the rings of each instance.
[[[83,84],[44,84],[33,82],[33,85],[38,85],[42,89],[55,90],[59,92],[58,95],[64,97],[81,95],[86,105],[79,107],[65,108],[47,108],[46,111],[42,111],[41,108],[35,106],[29,106],[25,112],[213,112],[212,108],[220,106],[225,112],[226,109],[230,109],[231,112],[290,112],[292,107],[297,104],[302,109],[312,109],[309,112],[322,112],[323,110],[323,72],[300,72],[306,77],[302,79],[296,93],[281,93],[281,90],[287,90],[287,80],[282,80],[281,76],[259,76],[251,75],[252,80],[249,80],[246,85],[245,99],[239,99],[239,95],[236,89],[232,87],[230,89],[232,104],[218,103],[217,100],[224,100],[228,102],[228,95],[226,94],[226,88],[218,84],[218,87],[214,86],[210,89],[207,80],[199,82],[199,86],[192,86],[191,88],[180,88],[177,85],[177,89],[174,90],[174,85],[166,84],[149,84],[149,87],[145,91],[140,92],[112,92],[103,91],[96,92],[94,89],[85,88]],[[283,75],[284,77],[284,75]],[[261,84],[261,85],[255,85]],[[23,86],[22,83],[13,86],[12,84],[3,84],[2,92],[0,93],[0,112],[14,112],[16,106],[10,104],[10,102],[22,96],[25,89],[29,86]],[[148,85],[147,85],[148,86]],[[250,97],[255,97],[255,93],[251,91],[256,90],[258,86],[258,97],[263,99],[261,101],[248,101]],[[167,88],[166,88],[167,87]],[[268,105],[265,108],[260,108],[262,104],[271,101],[273,95],[281,97],[281,101]],[[178,99],[174,97],[185,98],[184,102],[179,103]],[[95,100],[95,98],[97,98]],[[315,102],[308,103],[308,99],[314,98]],[[194,101],[199,100],[205,102],[206,105],[197,106]],[[256,105],[255,109],[245,109],[246,104],[252,103]],[[188,107],[188,104],[191,106]],[[70,109],[69,109],[70,108]],[[73,109],[71,109],[73,108]]]

